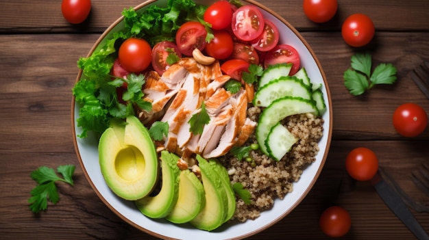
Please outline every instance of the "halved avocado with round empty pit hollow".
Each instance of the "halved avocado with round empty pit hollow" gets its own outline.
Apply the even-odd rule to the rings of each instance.
[[[99,164],[106,184],[126,200],[147,196],[158,180],[158,157],[149,131],[135,116],[114,120],[99,140]]]

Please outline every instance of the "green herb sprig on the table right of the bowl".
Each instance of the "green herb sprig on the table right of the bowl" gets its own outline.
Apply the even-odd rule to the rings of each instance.
[[[358,96],[377,84],[392,84],[396,81],[396,68],[392,64],[379,64],[371,74],[371,55],[357,53],[352,58],[352,68],[345,70],[344,85],[350,94]]]

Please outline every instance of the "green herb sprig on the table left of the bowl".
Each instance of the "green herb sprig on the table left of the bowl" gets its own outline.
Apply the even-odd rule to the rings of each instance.
[[[31,174],[32,178],[38,185],[32,189],[32,197],[28,199],[30,203],[29,208],[34,212],[38,213],[47,209],[47,202],[50,200],[53,204],[56,204],[60,200],[58,196],[56,181],[62,181],[69,183],[73,186],[73,173],[75,172],[75,165],[60,165],[57,168],[63,178],[56,174],[53,168],[45,166],[39,167],[34,170]]]

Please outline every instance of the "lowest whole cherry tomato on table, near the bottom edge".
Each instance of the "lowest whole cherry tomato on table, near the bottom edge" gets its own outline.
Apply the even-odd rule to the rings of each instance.
[[[341,206],[330,206],[320,215],[319,226],[329,237],[343,237],[352,226],[352,218]]]

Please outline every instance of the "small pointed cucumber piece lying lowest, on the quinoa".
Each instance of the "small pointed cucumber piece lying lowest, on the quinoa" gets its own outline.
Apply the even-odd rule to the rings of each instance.
[[[267,147],[269,157],[275,161],[280,161],[297,141],[298,139],[285,126],[278,122],[268,133],[268,137],[265,139],[265,146]]]

